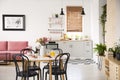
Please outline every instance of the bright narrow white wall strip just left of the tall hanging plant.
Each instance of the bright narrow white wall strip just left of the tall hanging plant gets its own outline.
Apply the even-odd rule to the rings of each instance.
[[[99,42],[99,0],[91,2],[91,31],[93,43]]]

